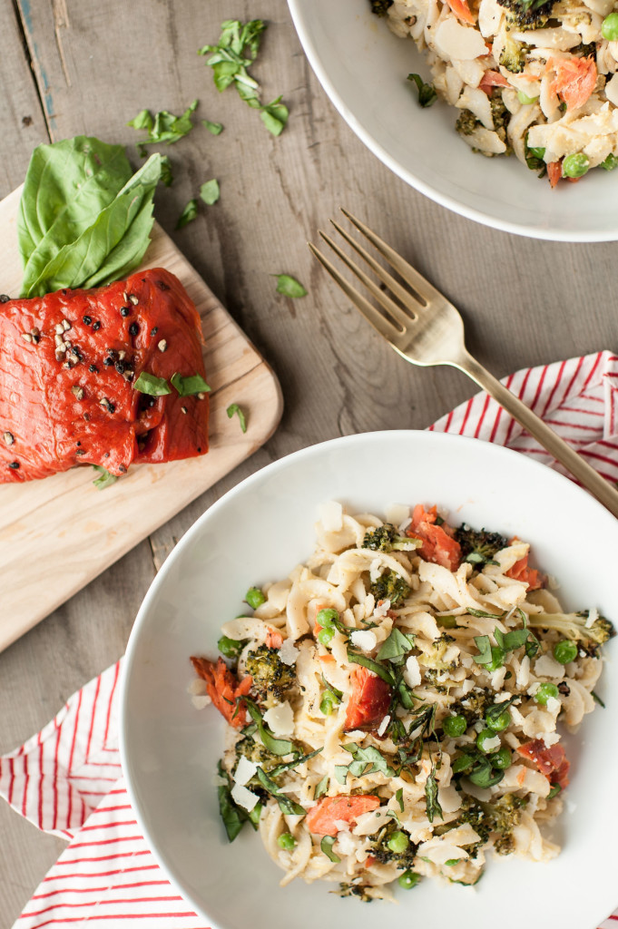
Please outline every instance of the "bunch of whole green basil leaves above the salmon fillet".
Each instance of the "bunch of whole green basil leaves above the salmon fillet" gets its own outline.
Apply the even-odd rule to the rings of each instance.
[[[81,139],[78,143],[77,140]],[[161,178],[161,155],[151,155],[135,175],[128,177],[124,152],[98,139],[77,137],[51,146],[43,154],[35,150],[33,171],[29,168],[21,194],[19,228],[20,251],[24,261],[22,296],[42,296],[63,287],[96,287],[117,280],[136,268],[150,242],[152,198]],[[112,150],[107,152],[106,150]],[[91,177],[90,155],[107,157],[102,168]],[[43,159],[43,170],[39,171]],[[125,164],[124,164],[125,163]],[[74,193],[59,175],[72,177],[72,185],[87,189]],[[51,191],[51,193],[49,192]],[[48,198],[52,198],[49,203]],[[42,217],[33,220],[33,211]],[[55,218],[52,218],[54,217]],[[35,239],[44,232],[43,236]],[[34,245],[30,252],[25,249]]]

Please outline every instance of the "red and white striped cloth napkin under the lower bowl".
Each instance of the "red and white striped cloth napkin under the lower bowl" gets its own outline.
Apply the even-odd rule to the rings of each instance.
[[[615,355],[529,368],[504,383],[603,477],[618,480]],[[556,466],[484,393],[430,428],[507,445]],[[118,752],[120,666],[86,684],[37,736],[0,758],[0,794],[39,829],[69,843],[14,929],[85,922],[98,929],[205,929],[164,878],[129,804]],[[610,927],[617,929],[618,911],[600,929]]]

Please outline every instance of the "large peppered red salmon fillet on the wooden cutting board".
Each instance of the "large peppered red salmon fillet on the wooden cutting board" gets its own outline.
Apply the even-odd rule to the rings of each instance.
[[[112,475],[208,451],[208,395],[141,393],[147,373],[204,378],[202,325],[178,281],[151,268],[94,290],[0,302],[0,483],[75,464]]]

